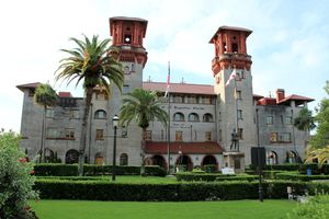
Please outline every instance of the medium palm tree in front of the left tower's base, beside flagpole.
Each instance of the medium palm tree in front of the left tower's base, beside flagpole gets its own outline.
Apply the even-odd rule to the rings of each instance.
[[[161,107],[162,101],[157,92],[135,89],[123,99],[120,108],[120,120],[122,125],[128,126],[134,120],[141,129],[141,165],[140,175],[145,175],[145,140],[146,130],[151,120],[157,118],[164,127],[168,122],[168,114]]]

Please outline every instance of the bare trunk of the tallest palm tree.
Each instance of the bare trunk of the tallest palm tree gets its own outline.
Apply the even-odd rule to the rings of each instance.
[[[92,90],[93,90],[92,87],[86,89],[84,110],[83,110],[81,136],[80,136],[80,147],[79,147],[78,173],[80,176],[83,175],[84,152],[86,152],[86,145],[87,145],[87,123],[88,123],[88,115],[89,115],[89,110],[90,110],[90,104],[91,104]]]

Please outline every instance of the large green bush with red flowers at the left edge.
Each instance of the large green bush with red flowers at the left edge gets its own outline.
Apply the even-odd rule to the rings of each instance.
[[[33,218],[27,200],[38,198],[33,191],[33,163],[19,150],[20,136],[0,131],[0,218]]]

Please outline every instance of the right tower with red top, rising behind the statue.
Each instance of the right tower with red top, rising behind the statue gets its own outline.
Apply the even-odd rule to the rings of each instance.
[[[215,79],[214,90],[218,95],[217,124],[219,142],[226,151],[230,150],[231,134],[239,136],[239,150],[250,154],[254,146],[254,112],[252,102],[251,56],[247,54],[248,28],[220,26],[211,44],[215,46],[212,70]],[[232,71],[236,78],[226,87]]]

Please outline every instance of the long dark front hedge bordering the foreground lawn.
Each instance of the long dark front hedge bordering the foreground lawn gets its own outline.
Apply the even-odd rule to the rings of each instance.
[[[287,198],[287,186],[295,195],[307,191],[329,192],[324,183],[277,181],[263,183],[264,198]],[[129,200],[129,201],[188,201],[188,200],[232,200],[257,199],[257,182],[216,182],[216,183],[112,183],[104,181],[60,181],[37,180],[35,189],[41,198],[47,199],[89,199],[89,200]]]

